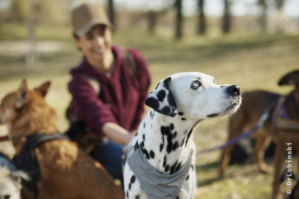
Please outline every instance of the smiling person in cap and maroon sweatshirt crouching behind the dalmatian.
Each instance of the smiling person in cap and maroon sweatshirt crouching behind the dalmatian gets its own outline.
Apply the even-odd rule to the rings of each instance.
[[[148,95],[147,64],[137,50],[112,46],[112,25],[97,4],[75,8],[72,27],[74,43],[83,54],[82,61],[71,70],[69,83],[74,114],[84,125],[109,139],[96,146],[91,156],[114,178],[122,180],[122,148],[138,128]],[[133,72],[124,53],[133,59]],[[99,91],[90,79],[97,82]]]

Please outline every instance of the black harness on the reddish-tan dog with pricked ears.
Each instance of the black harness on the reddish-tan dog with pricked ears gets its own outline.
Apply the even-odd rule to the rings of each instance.
[[[46,141],[69,140],[69,138],[66,135],[62,135],[60,132],[55,132],[50,135],[37,133],[26,137],[26,140],[27,142],[24,144],[22,151],[19,155],[16,155],[13,158],[13,163],[16,165],[17,169],[23,170],[30,175],[31,182],[28,183],[28,188],[36,193],[35,198],[37,198],[36,182],[41,178],[41,175],[36,159],[35,148]]]

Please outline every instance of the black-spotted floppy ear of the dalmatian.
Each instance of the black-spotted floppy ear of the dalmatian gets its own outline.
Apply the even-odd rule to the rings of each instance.
[[[160,81],[145,100],[145,104],[163,115],[174,117],[177,114],[177,107],[170,90],[170,80],[171,77],[168,77]]]

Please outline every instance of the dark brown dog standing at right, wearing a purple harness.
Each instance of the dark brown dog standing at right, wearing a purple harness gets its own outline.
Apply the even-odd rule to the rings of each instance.
[[[292,121],[299,122],[299,70],[290,72],[283,76],[279,85],[295,85],[289,95],[286,96],[283,109],[289,115]],[[296,129],[277,129],[276,113],[277,104],[281,100],[281,95],[270,93],[266,91],[246,92],[243,95],[243,102],[240,111],[234,118],[229,120],[229,140],[240,135],[244,130],[252,128],[259,120],[265,109],[271,110],[270,117],[265,121],[264,126],[253,133],[255,139],[255,146],[253,149],[253,156],[258,163],[259,169],[263,172],[269,172],[269,167],[266,165],[263,156],[265,148],[269,145],[271,138],[276,143],[274,159],[274,181],[273,181],[273,198],[277,199],[279,195],[279,177],[287,154],[288,145],[292,143],[292,150],[296,150],[299,154],[299,130]],[[223,177],[223,172],[227,168],[231,151],[234,145],[228,146],[223,150],[220,161],[220,177]]]

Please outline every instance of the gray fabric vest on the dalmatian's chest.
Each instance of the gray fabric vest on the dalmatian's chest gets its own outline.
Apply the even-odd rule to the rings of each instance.
[[[137,143],[138,144],[138,143]],[[132,169],[134,175],[141,184],[142,189],[148,199],[174,199],[179,194],[184,180],[187,177],[191,166],[192,153],[188,155],[187,161],[174,174],[165,175],[159,173],[142,154],[140,147],[135,149],[135,144],[126,152],[126,160]]]

